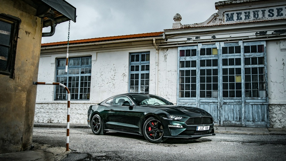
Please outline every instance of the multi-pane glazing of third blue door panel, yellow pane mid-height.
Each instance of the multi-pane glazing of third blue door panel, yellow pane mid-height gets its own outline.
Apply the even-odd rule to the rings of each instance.
[[[241,47],[237,43],[222,47],[223,97],[242,97]]]

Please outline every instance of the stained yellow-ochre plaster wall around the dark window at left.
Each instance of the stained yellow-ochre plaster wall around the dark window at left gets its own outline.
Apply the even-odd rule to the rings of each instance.
[[[15,78],[0,75],[0,153],[10,153],[32,144],[42,25],[36,10],[23,1],[1,0],[0,13],[21,19]]]

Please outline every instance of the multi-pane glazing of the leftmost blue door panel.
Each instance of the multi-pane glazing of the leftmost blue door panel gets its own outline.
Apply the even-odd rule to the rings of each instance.
[[[179,54],[179,97],[196,97],[197,49],[182,49]]]

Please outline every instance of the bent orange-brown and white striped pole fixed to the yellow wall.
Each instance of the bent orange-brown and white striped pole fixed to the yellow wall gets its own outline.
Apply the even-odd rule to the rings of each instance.
[[[54,83],[54,82],[33,82],[33,84],[45,84],[45,85],[58,85],[62,86],[68,92],[68,112],[67,112],[67,121],[66,121],[66,151],[69,151],[69,111],[70,111],[70,101],[71,101],[71,94],[69,92],[68,87],[63,85],[62,83]]]

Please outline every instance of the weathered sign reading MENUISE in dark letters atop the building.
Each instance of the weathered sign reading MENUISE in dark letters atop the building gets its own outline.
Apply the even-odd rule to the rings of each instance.
[[[286,6],[237,10],[224,13],[224,22],[243,22],[286,18]]]

